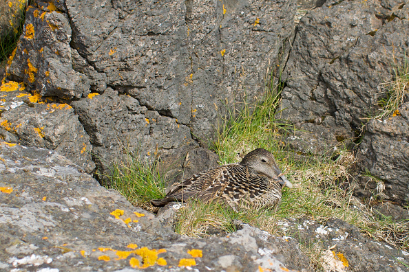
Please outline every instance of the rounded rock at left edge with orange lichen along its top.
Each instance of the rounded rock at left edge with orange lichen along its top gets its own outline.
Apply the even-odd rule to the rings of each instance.
[[[40,102],[17,82],[2,84],[0,96],[0,139],[56,150],[86,172],[94,170],[90,137],[70,105]]]

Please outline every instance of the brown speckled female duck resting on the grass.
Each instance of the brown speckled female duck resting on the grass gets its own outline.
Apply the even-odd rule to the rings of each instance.
[[[152,205],[162,207],[171,201],[196,198],[203,202],[227,203],[239,209],[273,209],[280,204],[284,186],[293,188],[291,182],[278,169],[271,152],[258,148],[242,159],[195,174],[182,181],[165,196],[152,200]]]

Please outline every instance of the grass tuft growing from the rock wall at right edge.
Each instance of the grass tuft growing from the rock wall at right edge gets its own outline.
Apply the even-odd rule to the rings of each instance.
[[[379,100],[378,104],[381,106],[381,111],[375,119],[382,119],[390,115],[399,115],[399,107],[403,104],[409,93],[408,58],[405,57],[403,65],[397,65],[397,63],[395,63],[392,70],[394,73],[392,80],[381,84],[381,87],[386,89],[386,97]]]

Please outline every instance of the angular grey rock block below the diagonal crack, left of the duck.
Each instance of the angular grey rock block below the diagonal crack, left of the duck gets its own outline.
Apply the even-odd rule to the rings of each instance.
[[[72,102],[72,106],[90,135],[92,155],[101,172],[109,172],[109,166],[122,161],[127,152],[141,159],[171,153],[168,160],[176,163],[182,161],[176,155],[179,150],[186,152],[187,147],[198,146],[187,126],[111,88],[101,95],[91,93],[86,99]]]

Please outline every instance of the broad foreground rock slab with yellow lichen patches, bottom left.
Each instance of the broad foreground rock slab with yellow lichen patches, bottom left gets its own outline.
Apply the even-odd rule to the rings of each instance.
[[[2,271],[290,271],[259,229],[178,236],[52,150],[1,143],[0,174]]]

